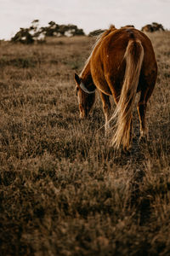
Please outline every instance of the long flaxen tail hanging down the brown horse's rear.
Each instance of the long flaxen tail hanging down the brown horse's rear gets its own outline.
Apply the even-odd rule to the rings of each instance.
[[[131,40],[127,44],[124,55],[126,71],[122,84],[121,96],[111,119],[116,118],[115,134],[111,144],[115,148],[128,149],[131,143],[131,125],[133,103],[139,84],[139,75],[144,59],[144,49],[139,40]]]

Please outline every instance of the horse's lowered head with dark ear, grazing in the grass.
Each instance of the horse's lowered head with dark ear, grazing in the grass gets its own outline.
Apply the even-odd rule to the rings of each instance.
[[[95,101],[95,90],[88,90],[86,86],[82,83],[82,79],[79,78],[77,73],[75,73],[75,81],[76,81],[76,92],[78,96],[78,103],[80,109],[80,117],[86,118],[88,117],[88,113],[94,105]]]

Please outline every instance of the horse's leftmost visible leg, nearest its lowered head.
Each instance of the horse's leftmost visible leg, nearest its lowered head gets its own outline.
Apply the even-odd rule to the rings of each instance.
[[[99,92],[103,104],[103,110],[105,113],[105,134],[109,130],[109,119],[111,118],[111,102],[108,95],[105,95],[103,92]]]

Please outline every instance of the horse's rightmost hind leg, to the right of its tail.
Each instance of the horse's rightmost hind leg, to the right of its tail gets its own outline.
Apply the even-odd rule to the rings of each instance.
[[[146,114],[146,106],[147,102],[152,94],[154,86],[147,88],[146,90],[141,91],[139,103],[138,103],[138,113],[139,113],[139,121],[140,121],[140,139],[143,137],[147,138],[148,130],[145,122],[145,114]]]

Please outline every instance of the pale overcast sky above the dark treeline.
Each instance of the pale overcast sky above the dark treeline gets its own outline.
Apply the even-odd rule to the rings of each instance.
[[[170,29],[170,0],[0,0],[0,39],[10,39],[33,20],[40,26],[52,20],[74,24],[85,33],[111,24],[141,29],[152,22]]]

